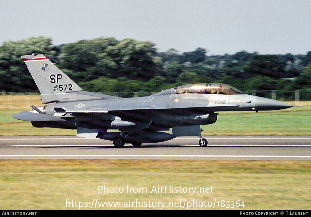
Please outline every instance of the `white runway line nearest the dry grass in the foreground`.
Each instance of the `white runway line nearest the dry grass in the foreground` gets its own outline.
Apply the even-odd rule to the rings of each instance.
[[[282,155],[0,155],[0,157],[235,157],[235,158],[311,158],[311,156]]]

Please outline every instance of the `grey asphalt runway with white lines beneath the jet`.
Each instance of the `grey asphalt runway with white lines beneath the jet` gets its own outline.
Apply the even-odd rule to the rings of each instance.
[[[0,137],[0,160],[311,160],[311,136],[209,136],[116,148],[112,142],[79,137]]]

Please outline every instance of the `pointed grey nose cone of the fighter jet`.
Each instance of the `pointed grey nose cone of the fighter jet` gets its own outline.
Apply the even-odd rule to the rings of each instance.
[[[256,97],[255,108],[258,110],[278,110],[293,107],[292,105],[264,97]]]

